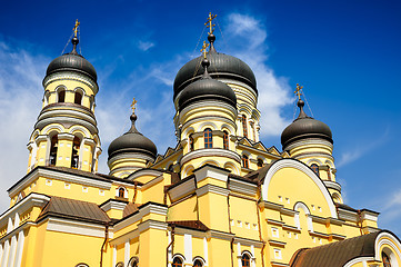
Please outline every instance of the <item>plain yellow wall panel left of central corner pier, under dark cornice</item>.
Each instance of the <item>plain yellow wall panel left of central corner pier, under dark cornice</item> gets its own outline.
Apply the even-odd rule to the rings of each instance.
[[[184,212],[183,212],[184,210]],[[168,221],[176,220],[197,220],[198,219],[198,205],[197,196],[178,201],[169,207]]]

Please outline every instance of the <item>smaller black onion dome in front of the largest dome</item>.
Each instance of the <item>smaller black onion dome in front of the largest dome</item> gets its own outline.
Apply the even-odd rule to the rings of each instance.
[[[235,92],[224,82],[214,80],[209,76],[209,65],[210,62],[208,59],[203,59],[202,78],[190,83],[180,92],[178,99],[179,111],[192,102],[207,99],[220,100],[231,105],[233,108],[237,108]]]

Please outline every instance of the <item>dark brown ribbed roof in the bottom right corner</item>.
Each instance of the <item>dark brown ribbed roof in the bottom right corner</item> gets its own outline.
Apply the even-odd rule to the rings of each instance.
[[[359,257],[374,257],[375,238],[381,231],[331,243],[314,248],[302,248],[291,259],[291,267],[342,267]]]

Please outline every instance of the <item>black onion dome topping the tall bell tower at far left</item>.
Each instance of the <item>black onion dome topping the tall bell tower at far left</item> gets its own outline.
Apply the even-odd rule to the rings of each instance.
[[[72,51],[64,53],[50,62],[46,76],[49,76],[59,71],[76,71],[89,76],[94,81],[98,80],[98,75],[93,66],[81,55],[77,52],[78,38],[72,38]]]

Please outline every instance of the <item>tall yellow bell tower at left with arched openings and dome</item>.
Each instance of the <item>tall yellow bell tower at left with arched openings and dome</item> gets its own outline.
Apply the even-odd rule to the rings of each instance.
[[[77,20],[71,52],[47,69],[42,110],[28,144],[28,172],[37,166],[98,169],[101,148],[94,97],[99,87],[93,66],[77,51],[79,24]]]

